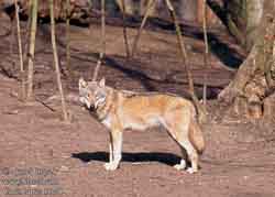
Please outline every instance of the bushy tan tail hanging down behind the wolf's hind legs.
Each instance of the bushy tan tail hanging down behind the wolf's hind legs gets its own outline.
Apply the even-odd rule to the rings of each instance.
[[[190,127],[189,127],[189,133],[188,133],[189,140],[191,144],[195,146],[195,149],[198,151],[199,154],[202,154],[205,151],[205,139],[202,131],[198,124],[198,122],[193,118],[190,121]]]

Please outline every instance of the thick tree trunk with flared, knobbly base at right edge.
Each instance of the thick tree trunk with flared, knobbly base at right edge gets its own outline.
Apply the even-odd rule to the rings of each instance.
[[[275,110],[275,0],[258,2],[263,14],[253,32],[254,45],[234,79],[219,95],[220,100],[233,105],[237,113],[250,118],[271,117]]]

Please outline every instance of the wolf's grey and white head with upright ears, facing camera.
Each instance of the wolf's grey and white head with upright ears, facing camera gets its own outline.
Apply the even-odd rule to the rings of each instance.
[[[105,105],[107,98],[107,88],[105,85],[105,78],[98,81],[85,81],[79,79],[79,100],[88,109]]]

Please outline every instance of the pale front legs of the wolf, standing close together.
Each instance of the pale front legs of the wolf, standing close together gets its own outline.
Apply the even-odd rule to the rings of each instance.
[[[109,144],[109,163],[105,164],[107,171],[114,171],[119,167],[122,158],[122,131],[110,131],[110,144]]]

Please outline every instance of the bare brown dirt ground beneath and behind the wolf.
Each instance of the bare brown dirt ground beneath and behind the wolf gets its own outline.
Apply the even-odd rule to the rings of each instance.
[[[66,77],[65,28],[58,24],[58,50],[66,95],[77,95],[80,76],[90,78],[100,48],[97,25],[72,28],[73,77]],[[136,30],[129,30],[130,42]],[[217,94],[233,77],[244,53],[223,32],[212,31],[211,65],[202,64],[199,29],[186,26],[186,45],[196,89],[209,75],[207,142],[197,174],[172,167],[180,152],[164,129],[127,131],[123,161],[107,172],[108,131],[78,102],[68,102],[72,123],[61,121],[61,103],[52,66],[50,28],[41,24],[35,56],[35,98],[21,102],[14,37],[0,39],[0,196],[67,197],[273,197],[275,196],[274,125],[232,116]],[[13,47],[10,47],[10,43]],[[217,47],[219,46],[219,48]],[[107,57],[100,77],[119,89],[168,91],[186,96],[187,80],[169,31],[145,31],[136,57],[127,62],[122,29],[107,26]],[[10,76],[11,78],[7,77]]]

